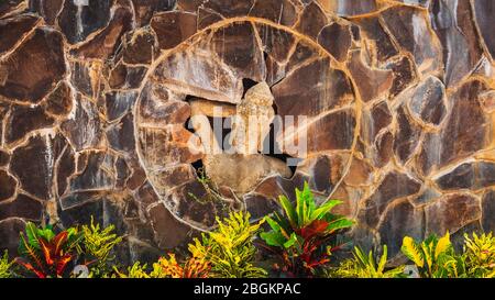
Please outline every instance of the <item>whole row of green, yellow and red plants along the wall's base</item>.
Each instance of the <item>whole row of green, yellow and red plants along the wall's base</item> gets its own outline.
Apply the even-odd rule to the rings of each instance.
[[[280,212],[252,223],[248,212],[230,212],[217,219],[217,229],[202,233],[188,246],[186,255],[168,253],[157,262],[131,266],[116,264],[116,247],[123,236],[113,225],[90,224],[55,230],[28,223],[20,235],[19,257],[0,257],[0,278],[96,277],[96,278],[493,278],[495,237],[492,233],[464,235],[461,253],[450,234],[430,235],[425,241],[405,236],[402,253],[409,263],[387,265],[387,246],[365,252],[359,245],[352,256],[337,262],[349,242],[342,233],[354,224],[332,213],[341,203],[317,203],[309,186],[296,189],[296,199],[279,197]],[[336,266],[336,263],[337,264]],[[86,270],[86,271],[85,271]]]

